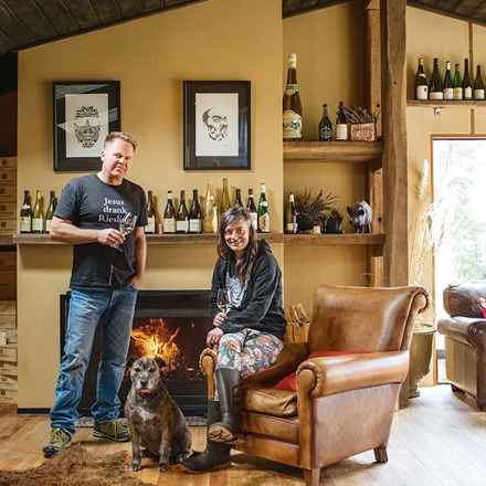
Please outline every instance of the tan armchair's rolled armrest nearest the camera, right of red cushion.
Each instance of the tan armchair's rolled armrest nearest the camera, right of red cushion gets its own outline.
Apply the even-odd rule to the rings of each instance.
[[[351,390],[401,384],[409,372],[409,351],[314,358],[297,369],[299,397],[326,397]]]

